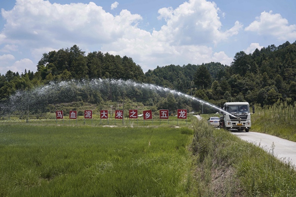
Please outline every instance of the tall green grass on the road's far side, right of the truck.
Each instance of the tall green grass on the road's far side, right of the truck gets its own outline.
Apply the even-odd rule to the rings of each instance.
[[[252,131],[296,141],[296,106],[280,101],[263,108],[256,106],[256,113],[252,115]]]

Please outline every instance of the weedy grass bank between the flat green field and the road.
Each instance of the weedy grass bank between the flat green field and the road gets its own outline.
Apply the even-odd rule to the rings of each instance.
[[[259,144],[250,144],[204,120],[194,127],[198,196],[295,197],[296,172]]]

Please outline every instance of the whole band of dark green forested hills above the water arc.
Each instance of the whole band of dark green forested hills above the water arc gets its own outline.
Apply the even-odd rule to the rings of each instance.
[[[7,71],[0,76],[0,100],[17,90],[50,81],[113,78],[156,84],[192,94],[220,105],[224,101],[272,104],[296,101],[296,42],[270,45],[253,54],[236,53],[230,66],[220,63],[157,66],[143,72],[132,58],[92,52],[78,46],[44,53],[37,72]]]

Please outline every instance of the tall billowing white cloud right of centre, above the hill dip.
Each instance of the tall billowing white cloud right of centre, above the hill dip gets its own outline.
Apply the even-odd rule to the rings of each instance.
[[[169,64],[202,64],[221,62],[230,65],[232,58],[224,52],[214,53],[213,44],[229,38],[242,29],[239,22],[225,31],[218,17],[219,8],[206,0],[189,0],[176,9],[158,10],[158,19],[166,24],[160,31],[148,33],[129,29],[123,37],[103,45],[104,51],[133,57],[144,71]],[[136,58],[135,58],[136,57]]]

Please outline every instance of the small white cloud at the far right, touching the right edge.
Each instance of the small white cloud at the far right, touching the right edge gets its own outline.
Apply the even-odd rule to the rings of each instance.
[[[289,25],[288,20],[272,11],[262,12],[245,31],[257,32],[260,35],[272,35],[279,40],[296,38],[296,25]]]

